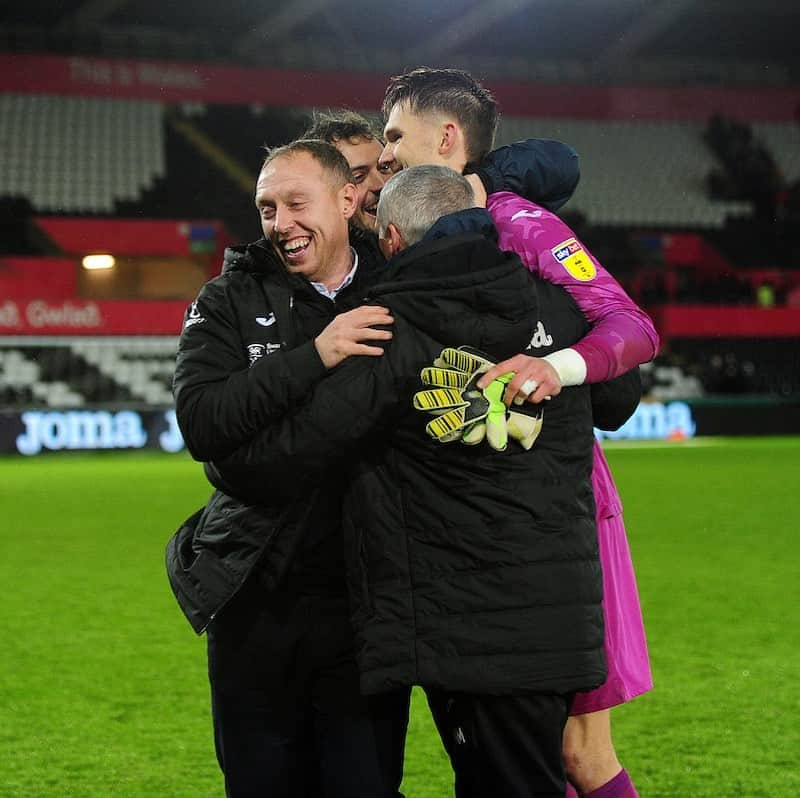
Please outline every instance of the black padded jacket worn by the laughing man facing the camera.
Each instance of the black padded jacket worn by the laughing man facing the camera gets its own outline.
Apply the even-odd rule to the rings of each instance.
[[[225,457],[303,401],[326,373],[312,339],[337,312],[360,304],[373,281],[376,253],[363,243],[356,278],[335,303],[289,274],[264,241],[226,251],[222,274],[187,312],[175,369],[178,422],[196,459]],[[341,479],[298,498],[278,480],[205,468],[218,490],[166,552],[170,584],[195,631],[251,574],[268,588],[344,593]]]

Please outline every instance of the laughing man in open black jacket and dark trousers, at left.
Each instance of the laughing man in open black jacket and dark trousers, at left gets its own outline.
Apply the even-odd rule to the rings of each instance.
[[[333,157],[331,157],[333,156]],[[344,357],[382,355],[391,317],[360,304],[376,263],[348,243],[355,189],[320,142],[268,161],[256,202],[272,241],[229,251],[189,310],[175,371],[178,421],[198,460],[224,458],[301,401]],[[274,165],[289,163],[280,191]],[[369,253],[367,253],[368,256]],[[337,313],[339,315],[337,315]],[[170,542],[168,571],[207,629],[217,755],[229,796],[383,796],[353,658],[332,472],[302,495],[221,488]],[[320,785],[324,784],[324,789]]]

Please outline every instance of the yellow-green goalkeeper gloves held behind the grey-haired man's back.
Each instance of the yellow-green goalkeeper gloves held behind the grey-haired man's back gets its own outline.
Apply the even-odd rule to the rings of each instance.
[[[458,349],[448,348],[442,350],[433,366],[423,369],[420,376],[426,385],[439,386],[441,389],[449,388],[457,391],[472,385],[472,390],[479,390],[476,383],[480,375],[494,365],[486,354],[477,349],[466,346]],[[472,421],[465,419],[452,431],[452,434],[434,437],[442,442],[460,438],[463,443],[469,445],[478,444],[486,438],[489,445],[497,451],[505,449],[508,438],[511,437],[524,449],[530,449],[542,429],[543,408],[519,405],[509,410],[505,406],[503,393],[513,376],[513,373],[503,374],[483,389],[483,398],[488,403],[485,415],[478,417],[479,414],[473,411],[473,415],[470,416]],[[431,407],[418,407],[416,401],[415,407],[429,412],[435,411],[435,408]],[[431,422],[434,423],[435,420]]]

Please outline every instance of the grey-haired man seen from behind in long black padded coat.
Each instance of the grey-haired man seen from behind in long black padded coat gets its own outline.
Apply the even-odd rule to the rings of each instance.
[[[530,450],[442,443],[412,399],[443,349],[502,360],[539,325],[558,349],[588,324],[563,289],[497,248],[473,204],[446,167],[387,184],[378,220],[390,260],[366,297],[395,318],[384,356],[348,358],[294,414],[215,466],[254,491],[297,497],[350,468],[343,512],[361,686],[376,706],[400,708],[377,733],[401,758],[402,694],[421,685],[440,733],[453,731],[459,795],[563,794],[571,697],[605,678],[589,388],[547,404]],[[476,418],[465,411],[455,432],[471,433]]]

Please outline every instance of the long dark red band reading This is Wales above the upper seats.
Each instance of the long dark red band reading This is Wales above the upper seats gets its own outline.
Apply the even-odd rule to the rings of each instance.
[[[388,75],[0,53],[0,92],[166,103],[380,107]],[[641,88],[486,81],[504,114],[573,119],[797,119],[800,87]]]

